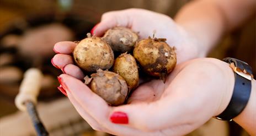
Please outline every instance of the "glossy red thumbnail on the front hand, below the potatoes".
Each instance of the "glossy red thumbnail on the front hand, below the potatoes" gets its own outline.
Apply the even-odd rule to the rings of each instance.
[[[110,121],[116,124],[128,124],[128,116],[124,112],[116,111],[110,116]]]

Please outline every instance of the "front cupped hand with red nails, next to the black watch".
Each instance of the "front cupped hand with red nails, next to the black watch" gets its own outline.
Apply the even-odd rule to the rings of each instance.
[[[220,114],[231,99],[234,75],[228,64],[201,58],[178,64],[166,84],[161,80],[142,84],[127,105],[111,107],[78,80],[84,75],[68,57],[75,46],[57,43],[54,49],[62,54],[52,62],[66,73],[60,75],[60,88],[95,130],[114,135],[184,135]]]

